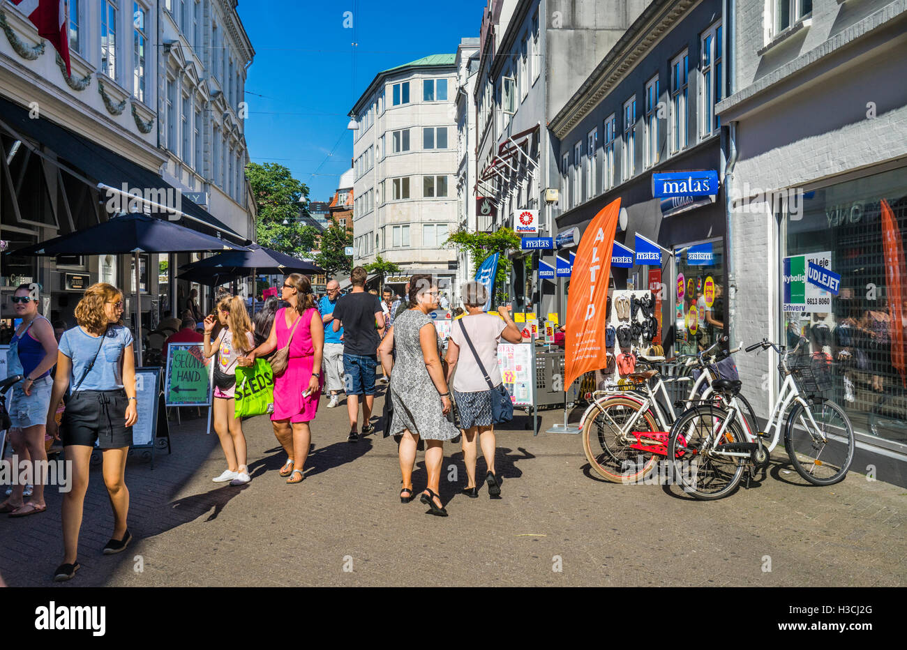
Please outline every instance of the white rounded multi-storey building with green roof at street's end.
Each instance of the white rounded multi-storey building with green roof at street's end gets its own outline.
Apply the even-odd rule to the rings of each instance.
[[[431,273],[450,296],[457,226],[456,54],[433,54],[375,75],[356,101],[353,246],[356,265],[377,256],[404,276]]]

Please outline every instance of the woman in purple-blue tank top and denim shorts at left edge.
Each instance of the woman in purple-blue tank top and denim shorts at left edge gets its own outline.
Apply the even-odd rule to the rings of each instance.
[[[33,288],[34,287],[34,288]],[[19,461],[40,463],[47,461],[44,448],[44,420],[47,403],[51,400],[50,370],[56,363],[57,344],[54,328],[43,315],[38,314],[37,285],[19,285],[12,297],[15,315],[22,325],[15,331],[6,352],[6,369],[9,376],[23,375],[24,379],[13,387],[9,402],[10,441]],[[23,503],[24,484],[16,482],[10,498],[0,504],[0,512],[10,517],[24,517],[44,512],[44,485],[39,472],[33,472],[34,491],[28,503]]]

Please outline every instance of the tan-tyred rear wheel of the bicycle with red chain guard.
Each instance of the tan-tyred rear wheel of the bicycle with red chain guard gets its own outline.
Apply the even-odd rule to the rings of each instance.
[[[640,404],[626,397],[603,400],[599,412],[582,427],[582,450],[586,460],[602,479],[613,483],[636,482],[649,473],[655,456],[649,451],[630,449],[637,441],[630,431],[657,432],[658,423],[651,412],[639,412]]]

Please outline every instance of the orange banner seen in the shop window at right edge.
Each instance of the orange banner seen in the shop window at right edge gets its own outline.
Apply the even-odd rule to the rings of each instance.
[[[888,330],[892,342],[892,366],[907,387],[907,349],[904,347],[902,310],[907,302],[907,262],[901,228],[888,201],[882,199],[882,243],[885,255],[885,284],[888,291]]]

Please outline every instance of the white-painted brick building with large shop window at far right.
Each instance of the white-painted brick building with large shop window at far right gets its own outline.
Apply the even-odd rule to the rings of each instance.
[[[904,484],[907,88],[892,80],[907,77],[907,4],[736,0],[734,17],[731,92],[717,106],[733,163],[733,337],[805,336],[853,422],[853,469]],[[836,295],[806,279],[811,262],[840,276]],[[763,417],[776,364],[737,358]]]

